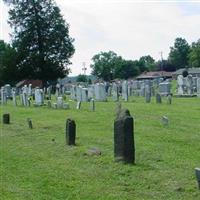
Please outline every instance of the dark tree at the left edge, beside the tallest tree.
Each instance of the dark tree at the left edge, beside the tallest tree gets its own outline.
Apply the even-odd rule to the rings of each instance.
[[[16,50],[0,40],[0,85],[16,83],[18,75]]]

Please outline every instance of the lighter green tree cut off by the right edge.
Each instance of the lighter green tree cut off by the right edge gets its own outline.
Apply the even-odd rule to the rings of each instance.
[[[200,39],[192,43],[189,63],[192,67],[200,67]]]

